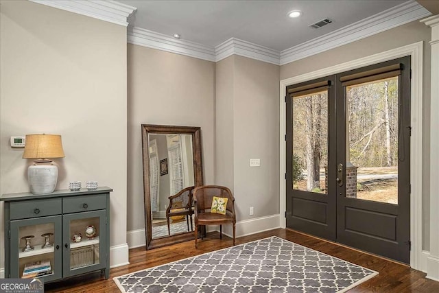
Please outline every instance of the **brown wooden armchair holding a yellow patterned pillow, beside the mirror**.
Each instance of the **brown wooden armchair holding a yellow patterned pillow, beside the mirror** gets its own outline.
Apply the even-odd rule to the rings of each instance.
[[[212,198],[228,198],[226,214],[211,213]],[[195,248],[197,247],[198,226],[219,225],[219,238],[222,238],[222,224],[233,224],[233,245],[235,245],[235,198],[232,191],[224,186],[202,185],[193,189],[195,219]],[[203,235],[201,235],[201,239]]]

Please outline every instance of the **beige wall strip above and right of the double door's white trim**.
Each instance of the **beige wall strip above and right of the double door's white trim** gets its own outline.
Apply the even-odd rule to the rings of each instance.
[[[429,250],[430,45],[431,29],[414,21],[354,43],[281,66],[281,80],[424,41],[423,51],[423,249]]]

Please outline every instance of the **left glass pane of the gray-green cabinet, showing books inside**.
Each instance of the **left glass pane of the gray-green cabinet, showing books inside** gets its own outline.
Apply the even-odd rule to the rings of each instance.
[[[55,273],[54,223],[19,228],[19,276],[38,278]]]

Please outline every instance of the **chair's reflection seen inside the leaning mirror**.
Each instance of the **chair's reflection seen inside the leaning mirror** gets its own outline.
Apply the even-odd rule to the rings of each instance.
[[[167,221],[167,233],[171,235],[171,228],[169,226],[169,218],[186,216],[187,231],[193,230],[192,226],[192,215],[193,215],[193,205],[192,205],[192,191],[193,186],[181,189],[178,194],[174,196],[169,196],[169,205],[166,209],[166,221]],[[189,218],[191,218],[191,230],[189,230]]]

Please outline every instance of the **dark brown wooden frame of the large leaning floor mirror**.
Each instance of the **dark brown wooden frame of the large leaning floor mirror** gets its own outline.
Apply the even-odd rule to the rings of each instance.
[[[166,126],[142,124],[143,157],[143,198],[145,200],[145,239],[146,249],[158,248],[178,242],[194,239],[193,232],[152,239],[152,216],[150,196],[150,141],[148,134],[191,134],[193,152],[193,182],[195,187],[203,185],[203,168],[201,152],[201,128],[192,126]]]

